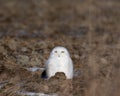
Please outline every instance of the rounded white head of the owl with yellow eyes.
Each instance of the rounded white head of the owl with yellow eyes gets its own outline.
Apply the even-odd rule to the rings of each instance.
[[[58,58],[59,57],[70,57],[68,50],[62,46],[55,47],[52,50],[50,56],[51,57],[58,57]]]

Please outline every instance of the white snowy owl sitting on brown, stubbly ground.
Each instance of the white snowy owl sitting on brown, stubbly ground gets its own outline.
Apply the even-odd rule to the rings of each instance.
[[[57,72],[63,72],[67,79],[73,78],[73,63],[68,50],[65,47],[55,47],[45,65],[46,75],[51,78]],[[43,74],[45,74],[45,71]]]

